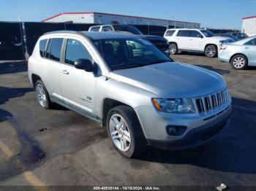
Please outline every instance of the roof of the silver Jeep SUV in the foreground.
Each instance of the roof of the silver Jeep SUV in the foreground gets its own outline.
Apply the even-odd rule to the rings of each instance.
[[[134,34],[117,33],[117,32],[94,32],[94,31],[52,31],[47,34],[82,34],[90,39],[122,39],[122,38],[136,38]]]

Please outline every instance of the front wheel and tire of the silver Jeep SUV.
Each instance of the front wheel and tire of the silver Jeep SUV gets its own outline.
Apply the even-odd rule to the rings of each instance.
[[[116,106],[110,109],[107,130],[113,146],[121,155],[135,157],[145,151],[146,139],[140,122],[129,106]]]

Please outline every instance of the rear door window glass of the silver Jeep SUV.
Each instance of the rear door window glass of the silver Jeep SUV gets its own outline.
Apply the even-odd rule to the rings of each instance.
[[[62,42],[63,42],[63,39],[61,38],[50,39],[45,57],[50,58],[50,60],[59,62],[61,60]]]

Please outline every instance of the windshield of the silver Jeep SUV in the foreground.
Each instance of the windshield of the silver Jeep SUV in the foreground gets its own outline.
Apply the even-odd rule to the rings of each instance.
[[[112,70],[173,61],[145,39],[98,39],[94,44]]]

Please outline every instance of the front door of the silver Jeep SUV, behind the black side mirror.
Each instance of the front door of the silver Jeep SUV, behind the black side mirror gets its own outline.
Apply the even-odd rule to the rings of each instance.
[[[93,116],[94,90],[97,77],[93,72],[75,68],[75,61],[81,58],[93,62],[89,47],[79,38],[66,39],[64,61],[61,64],[61,96],[64,103],[77,112]]]

